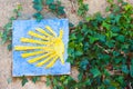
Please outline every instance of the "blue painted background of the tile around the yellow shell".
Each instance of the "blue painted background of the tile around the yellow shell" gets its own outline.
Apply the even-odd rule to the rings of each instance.
[[[35,63],[31,65],[27,60],[29,58],[22,58],[21,53],[23,51],[16,51],[16,46],[32,46],[31,43],[22,43],[20,38],[30,38],[28,34],[29,30],[34,31],[35,28],[44,29],[44,26],[50,26],[57,33],[59,33],[60,28],[63,29],[63,42],[65,44],[64,60],[68,58],[68,42],[69,42],[69,26],[68,19],[48,19],[37,22],[35,20],[14,20],[13,21],[13,32],[12,32],[12,47],[13,47],[13,66],[12,66],[12,76],[47,76],[47,75],[69,75],[70,73],[70,63],[65,62],[64,65],[58,60],[54,66],[50,69],[43,67],[35,67]]]

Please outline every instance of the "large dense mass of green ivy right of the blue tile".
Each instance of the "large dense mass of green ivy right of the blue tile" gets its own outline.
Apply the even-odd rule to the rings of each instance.
[[[52,89],[124,89],[133,86],[133,7],[111,2],[111,13],[80,22],[70,33],[69,58],[79,70],[71,76],[48,77]]]

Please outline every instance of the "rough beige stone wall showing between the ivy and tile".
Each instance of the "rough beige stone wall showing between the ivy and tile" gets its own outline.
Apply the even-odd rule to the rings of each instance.
[[[61,0],[62,4],[65,7],[66,16],[70,21],[78,24],[79,20],[81,19],[78,17],[73,10],[70,0]],[[74,1],[74,0],[73,0]],[[104,14],[104,9],[106,6],[106,0],[84,0],[89,3],[90,10],[89,14],[93,14],[96,11],[101,11]],[[133,0],[125,0],[133,3]],[[31,18],[31,16],[35,12],[32,9],[32,0],[0,0],[0,30],[2,27],[8,22],[8,19],[12,16],[12,10],[16,8],[18,3],[21,3],[23,7],[22,14],[23,17],[27,16]],[[75,8],[76,9],[76,3]],[[23,19],[23,18],[22,18]],[[34,85],[33,82],[29,81],[24,87],[21,87],[21,79],[13,78],[12,82],[8,85],[7,80],[11,79],[11,51],[7,51],[7,44],[0,46],[0,89],[50,89],[45,83],[45,77],[41,77],[41,81]],[[73,71],[74,72],[74,71]],[[75,73],[71,73],[71,76],[76,77],[78,71]]]

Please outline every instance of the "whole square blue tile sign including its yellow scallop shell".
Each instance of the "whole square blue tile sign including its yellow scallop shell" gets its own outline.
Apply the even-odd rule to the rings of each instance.
[[[13,77],[69,75],[66,19],[13,21]]]

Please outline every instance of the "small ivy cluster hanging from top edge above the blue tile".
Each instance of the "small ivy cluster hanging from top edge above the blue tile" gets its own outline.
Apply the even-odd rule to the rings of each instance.
[[[58,17],[65,17],[64,7],[61,6],[61,2],[54,0],[33,0],[33,8],[37,10],[37,13],[33,14],[37,20],[43,19],[41,14],[43,8],[47,8]]]

